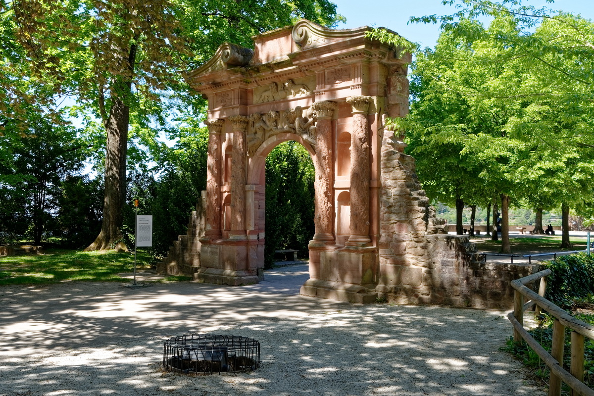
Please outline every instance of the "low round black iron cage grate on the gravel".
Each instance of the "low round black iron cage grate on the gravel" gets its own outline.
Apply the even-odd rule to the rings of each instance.
[[[191,334],[163,346],[163,368],[180,373],[246,372],[260,367],[260,343],[239,335]]]

